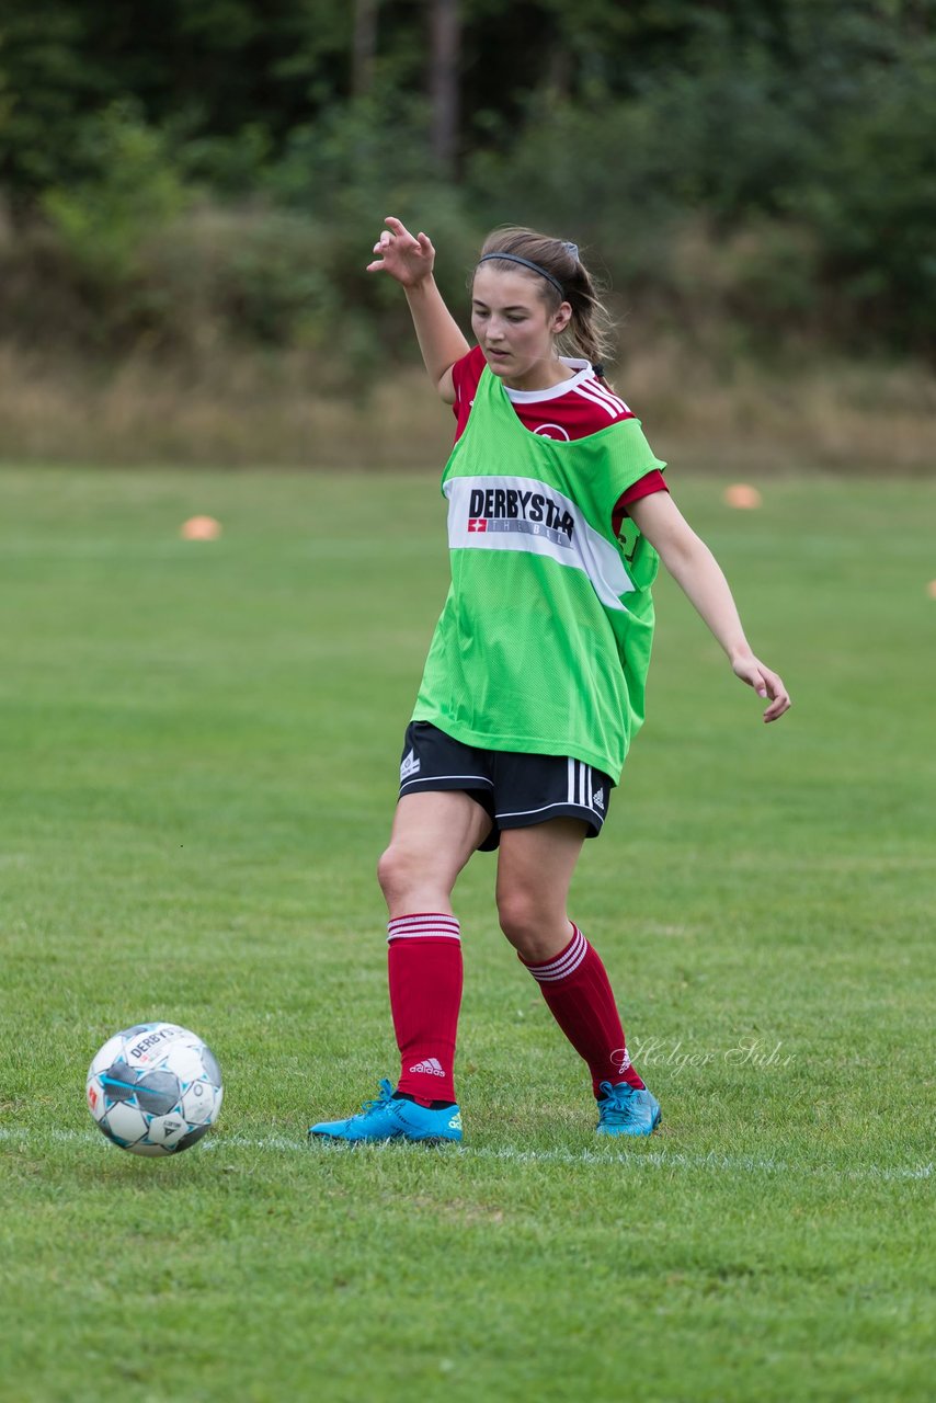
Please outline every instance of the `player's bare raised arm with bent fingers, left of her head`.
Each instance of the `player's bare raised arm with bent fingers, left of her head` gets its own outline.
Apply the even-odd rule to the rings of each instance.
[[[470,347],[435,285],[435,248],[427,234],[411,234],[399,219],[389,216],[385,223],[387,229],[373,246],[379,257],[368,264],[368,272],[389,272],[401,285],[429,379],[445,403],[453,404],[452,366]]]

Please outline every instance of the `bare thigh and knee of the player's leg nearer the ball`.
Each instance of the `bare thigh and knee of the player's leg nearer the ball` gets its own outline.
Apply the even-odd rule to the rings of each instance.
[[[469,794],[404,794],[377,863],[390,920],[422,911],[452,915],[457,875],[490,831],[491,819]]]

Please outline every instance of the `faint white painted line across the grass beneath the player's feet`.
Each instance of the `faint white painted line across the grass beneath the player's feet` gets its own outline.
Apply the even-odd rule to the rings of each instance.
[[[60,1145],[100,1143],[101,1149],[104,1149],[104,1136],[93,1129],[49,1129],[45,1135],[36,1135],[32,1131],[17,1127],[0,1127],[0,1143],[31,1145],[41,1143],[42,1139],[49,1139]],[[305,1136],[293,1139],[288,1135],[226,1135],[223,1131],[216,1138],[205,1139],[198,1146],[198,1152],[202,1155],[209,1152],[218,1155],[223,1153],[227,1148],[271,1150],[281,1155],[309,1153]],[[323,1141],[314,1145],[312,1153],[345,1155],[359,1149],[361,1146],[335,1145]],[[427,1153],[424,1146],[392,1145],[389,1141],[380,1145],[369,1145],[365,1152],[373,1153],[383,1149],[393,1149],[394,1153],[400,1153],[400,1150],[404,1153]],[[707,1155],[686,1155],[683,1150],[672,1149],[651,1150],[644,1149],[643,1145],[640,1148],[634,1146],[630,1153],[624,1152],[620,1155],[602,1153],[592,1149],[515,1149],[511,1145],[501,1149],[490,1145],[446,1145],[442,1146],[442,1150],[445,1155],[455,1155],[456,1157],[504,1160],[514,1164],[617,1164],[622,1169],[686,1169],[710,1170],[717,1174],[782,1174],[784,1177],[800,1176],[804,1179],[820,1177],[835,1180],[912,1180],[933,1177],[932,1160],[925,1164],[863,1164],[860,1169],[836,1169],[832,1164],[796,1164],[780,1159],[761,1159],[756,1155],[718,1155],[714,1150],[710,1150]]]

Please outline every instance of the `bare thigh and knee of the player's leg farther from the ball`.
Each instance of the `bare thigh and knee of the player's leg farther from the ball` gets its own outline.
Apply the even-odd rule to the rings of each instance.
[[[521,955],[542,964],[573,936],[566,904],[587,825],[553,818],[501,833],[497,860],[497,911],[501,930]]]

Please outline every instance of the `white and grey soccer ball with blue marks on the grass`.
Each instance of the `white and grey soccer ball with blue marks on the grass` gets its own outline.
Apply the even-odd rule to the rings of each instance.
[[[175,1023],[138,1023],[108,1038],[86,1089],[98,1128],[133,1155],[188,1149],[218,1120],[223,1094],[210,1048]]]

